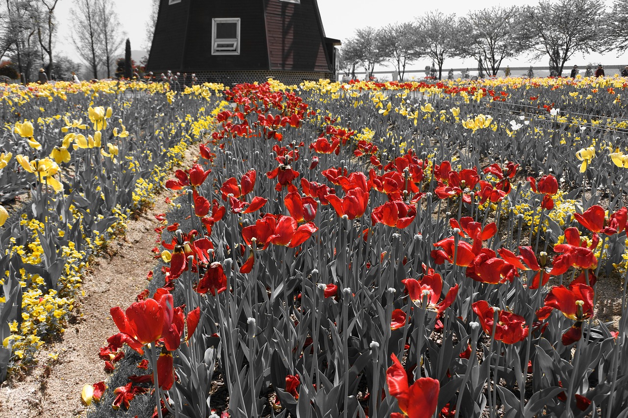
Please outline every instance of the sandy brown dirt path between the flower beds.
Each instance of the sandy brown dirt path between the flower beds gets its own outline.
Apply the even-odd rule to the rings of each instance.
[[[198,158],[198,146],[188,150],[184,167]],[[112,306],[126,309],[148,282],[146,274],[156,264],[151,251],[160,226],[154,215],[168,212],[165,203],[170,191],[156,196],[153,208],[127,223],[126,235],[109,244],[109,254],[97,257],[83,279],[78,297],[82,318],[68,324],[62,341],[40,352],[40,365],[21,382],[5,382],[0,387],[0,417],[62,418],[85,416],[80,393],[85,383],[107,380],[104,362],[98,357],[100,347],[118,332],[109,316]],[[58,360],[47,366],[48,353],[58,353]]]

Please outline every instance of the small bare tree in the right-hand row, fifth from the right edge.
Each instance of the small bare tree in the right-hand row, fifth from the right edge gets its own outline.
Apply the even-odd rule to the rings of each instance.
[[[406,73],[406,65],[421,56],[420,45],[413,36],[415,32],[416,26],[409,22],[389,24],[377,32],[378,48],[401,80]]]

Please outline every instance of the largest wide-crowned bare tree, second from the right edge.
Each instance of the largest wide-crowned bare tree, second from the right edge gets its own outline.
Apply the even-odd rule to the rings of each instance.
[[[589,0],[541,0],[521,14],[519,35],[535,58],[549,56],[556,75],[574,53],[602,51],[609,46],[605,36],[604,3]],[[625,36],[623,34],[622,36]]]

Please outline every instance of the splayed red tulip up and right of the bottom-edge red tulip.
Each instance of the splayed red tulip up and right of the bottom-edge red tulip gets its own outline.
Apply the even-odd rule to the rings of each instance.
[[[498,323],[495,324],[495,310],[487,301],[474,302],[472,307],[485,333],[492,335],[493,327],[495,327],[495,340],[514,344],[525,340],[528,336],[529,329],[526,326],[526,318],[499,309],[497,313]]]

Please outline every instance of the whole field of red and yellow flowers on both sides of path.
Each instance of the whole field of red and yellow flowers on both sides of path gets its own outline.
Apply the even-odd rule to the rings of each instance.
[[[57,84],[0,107],[5,367],[179,195],[89,417],[628,414],[625,78]]]

